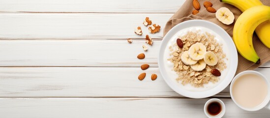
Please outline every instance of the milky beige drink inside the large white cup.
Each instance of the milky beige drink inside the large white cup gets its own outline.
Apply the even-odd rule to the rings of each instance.
[[[260,105],[268,94],[266,81],[258,75],[240,76],[232,87],[235,101],[242,107],[254,108]]]

